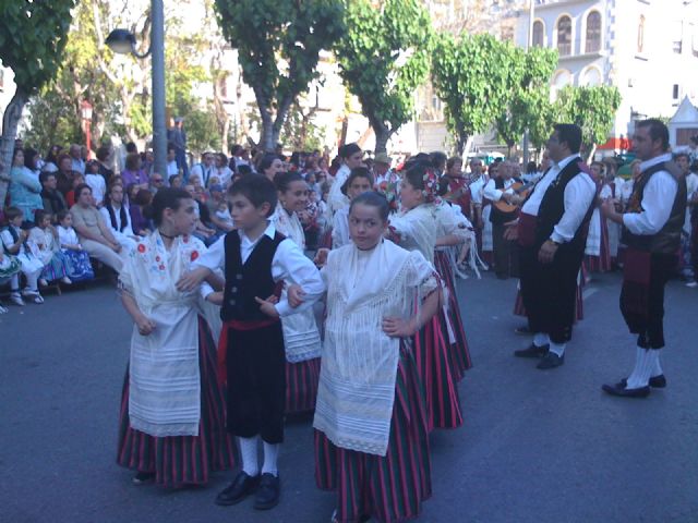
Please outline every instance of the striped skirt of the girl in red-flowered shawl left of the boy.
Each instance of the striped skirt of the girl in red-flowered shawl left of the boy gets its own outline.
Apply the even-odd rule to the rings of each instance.
[[[129,372],[119,416],[117,463],[139,472],[155,473],[166,487],[203,485],[208,473],[232,469],[234,446],[226,431],[225,397],[216,380],[216,349],[206,323],[198,317],[198,368],[201,372],[201,422],[198,436],[156,438],[129,424]]]

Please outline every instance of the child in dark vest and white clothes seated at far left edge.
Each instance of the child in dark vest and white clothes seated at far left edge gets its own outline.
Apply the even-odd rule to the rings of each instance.
[[[4,211],[8,219],[8,227],[0,233],[2,238],[2,246],[5,254],[17,257],[22,265],[22,272],[26,278],[26,287],[20,295],[19,281],[17,285],[12,288],[11,300],[17,305],[24,305],[22,296],[31,300],[36,304],[44,303],[41,294],[39,294],[38,279],[44,270],[44,264],[32,252],[28,242],[28,231],[22,228],[22,219],[24,214],[16,207],[8,207]]]

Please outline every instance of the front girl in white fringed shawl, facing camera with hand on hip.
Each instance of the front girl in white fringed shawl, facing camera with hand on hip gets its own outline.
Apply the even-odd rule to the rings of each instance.
[[[440,282],[419,252],[383,240],[387,216],[383,196],[357,196],[349,214],[353,243],[329,253],[323,268],[327,319],[313,424],[315,476],[320,488],[337,492],[335,522],[412,519],[431,495],[411,339],[436,313]]]

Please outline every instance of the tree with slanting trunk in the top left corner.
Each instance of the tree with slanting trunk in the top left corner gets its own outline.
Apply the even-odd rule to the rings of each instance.
[[[2,117],[0,141],[0,208],[4,204],[12,150],[29,96],[58,70],[70,28],[74,0],[4,2],[0,16],[0,60],[14,72],[16,92]]]

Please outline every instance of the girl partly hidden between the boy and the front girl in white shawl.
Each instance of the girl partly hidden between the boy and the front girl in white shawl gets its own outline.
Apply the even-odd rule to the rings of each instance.
[[[279,200],[272,222],[278,232],[305,251],[305,233],[298,211],[308,204],[308,184],[298,172],[278,173],[274,183]],[[287,281],[286,287],[292,283]],[[312,307],[285,317],[281,328],[286,349],[286,414],[312,412],[317,396],[322,348]]]

